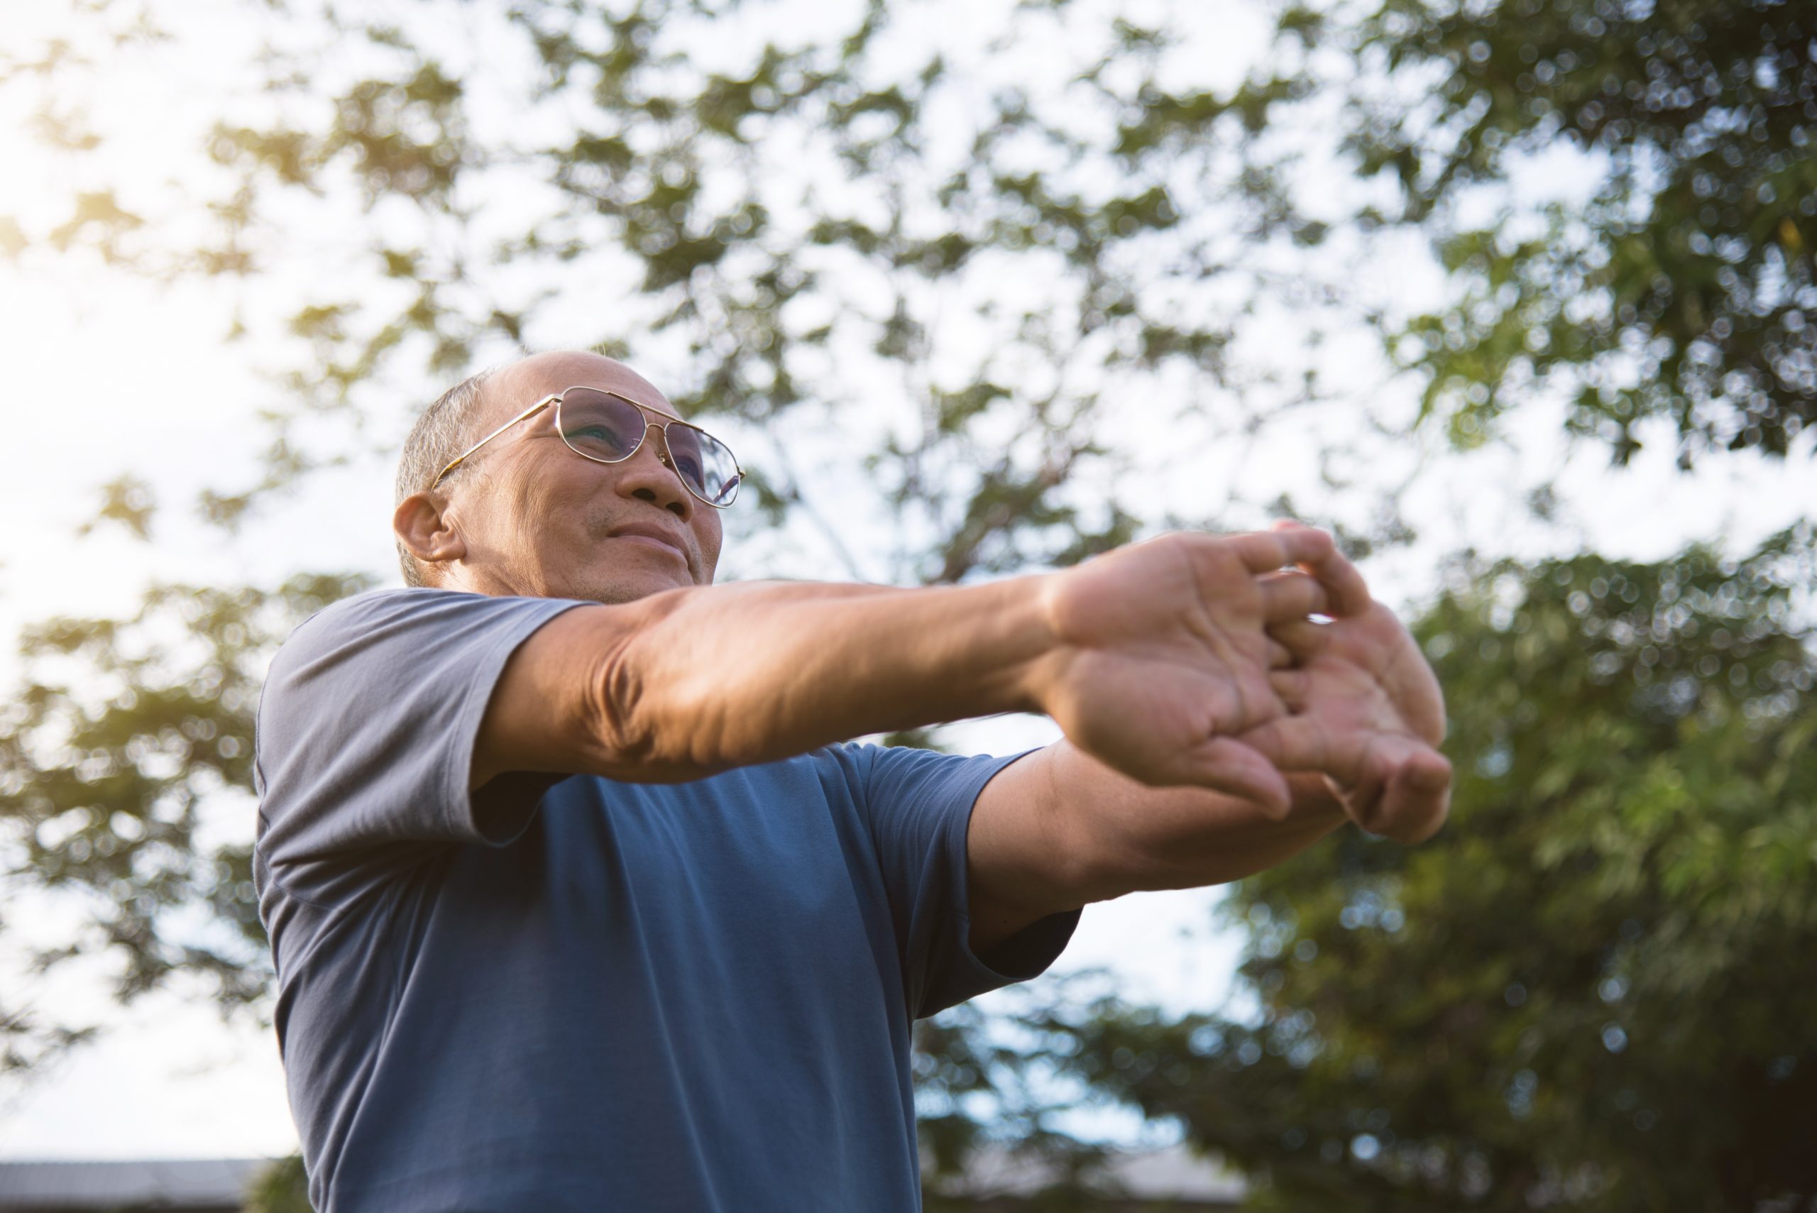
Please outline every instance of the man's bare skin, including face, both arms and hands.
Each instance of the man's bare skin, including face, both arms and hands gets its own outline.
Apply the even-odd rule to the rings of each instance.
[[[571,385],[672,416],[621,363],[540,354],[491,380],[476,438]],[[1443,824],[1437,683],[1325,532],[1170,534],[978,587],[712,587],[718,510],[656,443],[592,463],[543,410],[472,463],[396,510],[431,585],[600,603],[507,663],[474,788],[507,770],[698,779],[1043,712],[1063,741],[1001,770],[970,817],[970,942],[987,961],[1047,915],[1237,879],[1346,819],[1401,841]]]

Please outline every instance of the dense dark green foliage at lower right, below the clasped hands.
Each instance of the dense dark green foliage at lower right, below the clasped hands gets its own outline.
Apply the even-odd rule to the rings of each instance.
[[[1817,1197],[1817,545],[1463,561],[1415,636],[1452,823],[1252,877],[1254,1017],[1116,1008],[1070,1066],[1268,1209]]]

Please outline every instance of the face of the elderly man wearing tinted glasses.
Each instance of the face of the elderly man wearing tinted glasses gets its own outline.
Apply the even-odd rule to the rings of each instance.
[[[536,354],[494,374],[472,441],[569,387],[620,392],[660,414],[667,398],[630,367],[598,354]],[[652,423],[656,418],[649,418]],[[487,443],[443,481],[445,525],[463,556],[442,585],[482,594],[629,603],[710,585],[720,512],[694,498],[661,459],[656,430],[620,463],[574,454],[543,409]]]

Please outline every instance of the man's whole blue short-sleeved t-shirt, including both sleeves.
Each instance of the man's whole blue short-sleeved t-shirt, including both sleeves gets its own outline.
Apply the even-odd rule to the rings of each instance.
[[[910,1022],[979,961],[965,833],[1014,759],[841,745],[683,784],[467,781],[563,599],[382,590],[278,652],[254,870],[320,1213],[919,1208]]]

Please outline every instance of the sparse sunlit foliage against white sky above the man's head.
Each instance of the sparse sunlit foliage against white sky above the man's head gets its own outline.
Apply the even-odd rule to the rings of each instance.
[[[274,5],[256,93],[223,93],[207,136],[213,200],[129,182],[16,240],[260,278],[294,271],[300,214],[360,229],[302,276],[305,298],[249,321],[283,327],[291,369],[263,474],[204,496],[229,527],[394,441],[398,398],[432,398],[425,380],[558,340],[661,369],[683,412],[752,449],[758,518],[819,528],[843,576],[1076,563],[1152,521],[1107,492],[1132,412],[1216,409],[1232,430],[1319,396],[1317,374],[1232,345],[1257,298],[1312,321],[1321,287],[1261,252],[1321,229],[1283,218],[1274,162],[1226,104],[1154,100],[1190,64],[1185,35],[1061,0],[928,38],[930,11],[865,0],[803,29],[741,0],[411,0],[382,22]],[[164,18],[93,7],[120,38]],[[956,69],[979,42],[985,65],[1063,45],[1079,73]],[[0,85],[80,113],[109,53],[0,56]],[[58,145],[94,165],[109,151],[94,133]],[[849,510],[812,499],[823,468],[798,467],[796,436],[827,432],[894,527],[863,557]]]

